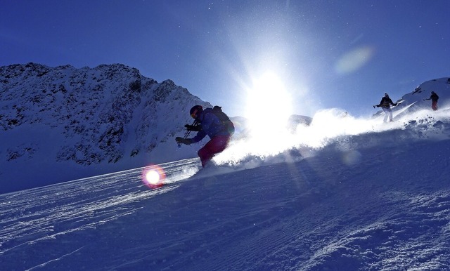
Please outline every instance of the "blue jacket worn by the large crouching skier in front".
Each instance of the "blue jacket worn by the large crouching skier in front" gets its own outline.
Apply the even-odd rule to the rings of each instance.
[[[191,138],[192,143],[197,143],[205,138],[206,135],[210,138],[214,138],[217,135],[230,135],[228,129],[220,119],[216,117],[214,112],[212,112],[212,108],[205,108],[197,119],[202,126],[202,130]]]

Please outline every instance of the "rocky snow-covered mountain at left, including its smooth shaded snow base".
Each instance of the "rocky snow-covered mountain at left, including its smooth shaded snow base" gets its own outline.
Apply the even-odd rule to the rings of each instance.
[[[195,104],[125,65],[0,67],[0,192],[195,157],[173,139]]]

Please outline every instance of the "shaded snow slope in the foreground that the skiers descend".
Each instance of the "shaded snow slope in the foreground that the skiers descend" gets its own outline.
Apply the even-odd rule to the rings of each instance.
[[[449,270],[450,112],[376,123],[194,176],[162,164],[158,190],[136,168],[2,194],[2,269]]]

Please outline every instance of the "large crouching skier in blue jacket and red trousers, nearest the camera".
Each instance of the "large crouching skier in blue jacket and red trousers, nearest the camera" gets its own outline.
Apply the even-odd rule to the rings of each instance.
[[[205,108],[203,110],[201,105],[195,105],[189,113],[195,121],[193,125],[186,124],[185,127],[188,132],[197,131],[197,135],[193,138],[177,137],[175,140],[176,143],[190,145],[199,142],[208,135],[210,141],[198,150],[198,157],[202,161],[202,166],[205,167],[212,157],[214,157],[214,154],[223,152],[228,146],[234,131],[234,126],[229,118],[221,112],[220,107],[214,107],[214,110],[212,108]],[[187,135],[188,133],[186,133]]]

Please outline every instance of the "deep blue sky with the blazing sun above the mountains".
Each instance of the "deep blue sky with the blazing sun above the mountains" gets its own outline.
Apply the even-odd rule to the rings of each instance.
[[[295,114],[340,107],[367,115],[385,92],[397,100],[423,81],[450,77],[447,0],[1,6],[2,66],[122,63],[157,81],[172,79],[232,116],[255,107],[277,112],[286,103]]]

